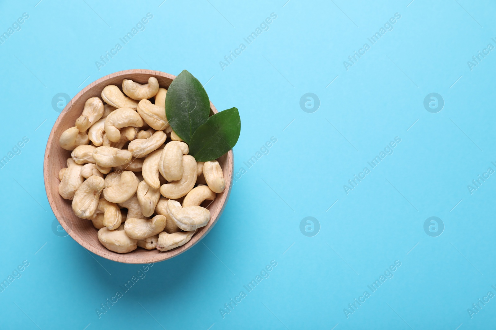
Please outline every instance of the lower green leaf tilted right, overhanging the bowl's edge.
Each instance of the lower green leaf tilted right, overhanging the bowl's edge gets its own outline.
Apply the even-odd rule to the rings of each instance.
[[[217,159],[233,148],[240,132],[241,119],[237,108],[216,113],[194,132],[189,154],[199,162]]]

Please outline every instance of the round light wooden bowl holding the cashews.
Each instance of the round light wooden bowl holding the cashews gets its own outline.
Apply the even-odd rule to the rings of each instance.
[[[59,118],[54,124],[52,132],[48,138],[47,148],[45,150],[45,160],[43,165],[43,174],[45,177],[45,189],[47,191],[48,201],[54,211],[55,216],[59,220],[63,229],[83,247],[91,252],[98,254],[104,258],[128,263],[128,264],[147,264],[157,261],[170,259],[183,253],[194,244],[196,244],[203,236],[205,236],[215,225],[219,219],[224,207],[229,198],[229,193],[232,187],[234,157],[233,150],[223,155],[218,159],[224,178],[226,180],[226,189],[217,194],[217,198],[208,205],[210,211],[210,221],[205,227],[200,228],[196,234],[185,245],[177,247],[169,251],[145,250],[138,247],[136,250],[121,254],[105,248],[97,238],[98,230],[93,227],[91,220],[80,219],[74,215],[70,200],[63,199],[59,194],[59,171],[61,168],[67,167],[67,158],[70,157],[71,151],[64,150],[59,145],[59,139],[62,132],[73,127],[76,119],[83,111],[84,102],[94,96],[101,98],[102,90],[105,86],[116,85],[122,89],[123,79],[131,79],[140,84],[146,84],[149,77],[158,79],[160,87],[169,88],[176,76],[168,73],[153,71],[153,70],[124,70],[116,72],[98,79],[97,81],[86,86],[72,100],[67,103]],[[210,114],[217,113],[217,109],[210,102]]]

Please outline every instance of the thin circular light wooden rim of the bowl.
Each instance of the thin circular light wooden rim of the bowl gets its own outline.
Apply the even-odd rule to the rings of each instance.
[[[149,263],[155,263],[155,262],[160,262],[160,261],[174,258],[174,257],[180,255],[181,253],[185,252],[186,250],[190,249],[192,246],[194,246],[196,243],[198,243],[204,236],[206,236],[208,234],[208,232],[210,232],[212,227],[217,223],[217,221],[219,220],[219,218],[222,215],[222,212],[224,211],[224,208],[226,207],[226,204],[227,204],[227,201],[229,200],[229,196],[231,194],[231,189],[233,186],[234,154],[233,154],[233,149],[229,150],[226,154],[226,160],[225,161],[227,162],[228,169],[230,170],[230,175],[229,175],[229,177],[224,176],[226,179],[226,190],[224,191],[225,194],[223,195],[223,197],[221,197],[224,200],[222,201],[222,205],[221,205],[221,208],[219,210],[218,215],[215,217],[215,219],[211,223],[209,222],[209,224],[207,226],[205,226],[206,228],[205,228],[205,230],[202,231],[201,235],[198,235],[198,234],[194,235],[186,244],[184,244],[178,248],[169,250],[169,251],[161,251],[160,253],[150,255],[149,257],[144,256],[141,258],[129,258],[129,257],[126,258],[127,253],[121,254],[121,253],[113,252],[110,250],[103,252],[102,250],[98,250],[98,249],[94,248],[91,244],[87,243],[86,240],[83,239],[81,236],[76,235],[74,233],[74,231],[72,231],[71,228],[69,228],[69,226],[67,225],[66,221],[63,218],[62,212],[55,205],[55,199],[51,198],[51,196],[53,196],[54,192],[52,191],[52,188],[49,184],[50,178],[49,178],[48,167],[50,166],[50,159],[49,159],[50,157],[49,157],[48,151],[49,151],[49,146],[53,143],[53,140],[54,140],[55,128],[57,126],[59,126],[59,124],[62,122],[63,117],[64,117],[63,114],[67,113],[68,110],[70,110],[70,108],[72,107],[72,101],[73,100],[80,98],[83,94],[85,94],[90,89],[92,89],[93,87],[95,87],[96,85],[98,85],[102,82],[105,82],[109,79],[114,79],[114,78],[119,77],[119,76],[126,76],[126,75],[130,75],[130,74],[146,74],[146,75],[151,75],[151,76],[159,76],[162,78],[168,78],[171,80],[174,80],[176,78],[176,76],[171,75],[171,74],[166,73],[166,72],[162,72],[162,71],[149,70],[149,69],[129,69],[129,70],[122,70],[122,71],[108,74],[108,75],[106,75],[102,78],[99,78],[99,79],[95,80],[94,82],[88,84],[86,87],[84,87],[82,90],[80,90],[76,95],[74,95],[74,97],[72,97],[69,102],[67,102],[67,104],[65,105],[61,114],[58,116],[57,120],[55,121],[55,123],[52,127],[52,130],[50,131],[50,135],[47,139],[47,145],[45,148],[45,155],[44,155],[44,159],[43,159],[43,177],[44,177],[45,192],[47,194],[47,199],[49,201],[50,207],[51,207],[55,217],[57,218],[57,220],[61,224],[62,228],[67,232],[67,234],[69,236],[71,236],[77,243],[79,243],[85,249],[87,249],[87,250],[89,250],[89,251],[91,251],[91,252],[93,252],[93,253],[95,253],[95,254],[103,257],[103,258],[106,258],[106,259],[109,259],[112,261],[117,261],[117,262],[126,263],[126,264],[149,264]],[[123,79],[125,79],[125,78],[123,78]],[[215,106],[213,105],[212,101],[210,101],[210,110],[214,114],[219,112],[215,108]],[[59,194],[58,191],[56,192],[56,194],[57,195]],[[172,252],[172,254],[171,253],[165,253],[162,255],[162,252]],[[130,252],[130,253],[132,253],[132,252]]]

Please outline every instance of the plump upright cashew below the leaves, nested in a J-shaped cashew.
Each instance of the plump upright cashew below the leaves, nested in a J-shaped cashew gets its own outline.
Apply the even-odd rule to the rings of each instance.
[[[162,150],[158,170],[167,181],[178,181],[183,177],[183,155],[189,152],[185,142],[170,141]]]

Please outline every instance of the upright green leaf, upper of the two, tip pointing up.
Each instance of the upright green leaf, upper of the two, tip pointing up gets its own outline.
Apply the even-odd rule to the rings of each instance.
[[[165,113],[176,134],[189,144],[191,136],[210,115],[210,101],[201,83],[187,70],[167,90]]]

